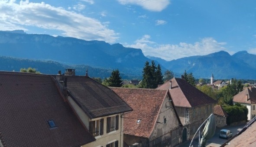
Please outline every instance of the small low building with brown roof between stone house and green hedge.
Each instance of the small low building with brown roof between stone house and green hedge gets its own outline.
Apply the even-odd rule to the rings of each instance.
[[[214,105],[214,117],[218,128],[227,125],[227,112],[225,112],[221,105]]]

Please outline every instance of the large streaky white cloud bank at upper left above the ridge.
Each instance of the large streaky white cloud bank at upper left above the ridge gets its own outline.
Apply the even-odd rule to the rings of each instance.
[[[29,27],[58,30],[63,36],[85,40],[103,40],[113,43],[117,34],[96,19],[54,7],[49,4],[29,3],[28,0],[15,3],[0,0],[0,30],[24,29]]]

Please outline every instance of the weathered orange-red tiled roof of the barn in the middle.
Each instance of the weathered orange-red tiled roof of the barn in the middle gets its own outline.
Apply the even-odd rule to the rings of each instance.
[[[123,133],[149,137],[167,90],[111,87],[133,111],[124,115]],[[140,123],[137,123],[141,119]]]

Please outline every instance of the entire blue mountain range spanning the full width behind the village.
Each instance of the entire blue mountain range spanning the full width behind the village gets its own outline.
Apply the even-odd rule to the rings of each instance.
[[[0,31],[0,70],[19,71],[33,67],[43,74],[57,74],[58,70],[75,68],[77,75],[88,69],[90,77],[109,77],[119,69],[123,79],[141,79],[146,61],[154,60],[165,70],[180,77],[186,70],[196,78],[256,79],[255,54],[239,51],[230,55],[219,51],[204,56],[191,56],[172,61],[145,57],[141,49],[110,45],[103,41],[85,41],[77,38],[26,34],[23,30]]]

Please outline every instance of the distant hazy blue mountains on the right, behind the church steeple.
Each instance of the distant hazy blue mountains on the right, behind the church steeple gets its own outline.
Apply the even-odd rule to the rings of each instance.
[[[148,57],[157,60],[157,58]],[[172,61],[157,60],[165,68],[177,73],[192,72],[197,78],[216,79],[256,79],[256,55],[240,51],[231,56],[226,51],[219,51],[204,56],[191,56]]]

